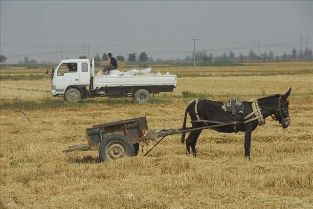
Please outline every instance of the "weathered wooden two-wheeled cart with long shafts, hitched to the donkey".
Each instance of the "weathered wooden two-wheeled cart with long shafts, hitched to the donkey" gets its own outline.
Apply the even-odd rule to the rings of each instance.
[[[93,125],[86,129],[88,144],[69,146],[63,152],[86,151],[99,149],[99,158],[103,162],[124,156],[136,156],[139,151],[139,143],[145,139],[156,140],[161,138],[147,153],[146,156],[166,136],[190,132],[193,130],[212,129],[226,125],[235,125],[239,122],[230,122],[219,125],[203,126],[198,128],[162,129],[148,131],[146,117],[116,121],[107,124]]]

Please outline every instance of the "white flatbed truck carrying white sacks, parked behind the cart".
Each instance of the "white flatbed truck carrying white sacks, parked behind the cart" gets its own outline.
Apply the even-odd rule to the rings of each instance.
[[[94,60],[62,60],[52,68],[51,91],[68,103],[77,103],[82,98],[133,97],[138,103],[147,102],[150,94],[173,92],[176,75],[141,76],[95,76]]]

